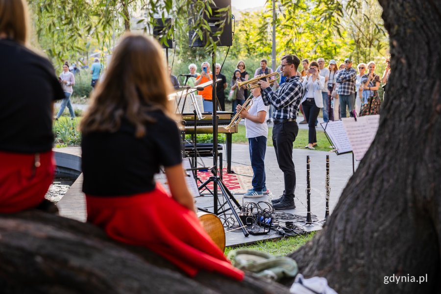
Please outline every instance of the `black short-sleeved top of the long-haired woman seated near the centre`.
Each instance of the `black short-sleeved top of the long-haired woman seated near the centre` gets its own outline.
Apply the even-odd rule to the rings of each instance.
[[[115,133],[83,134],[81,142],[83,192],[91,196],[130,196],[155,188],[159,166],[182,162],[176,123],[162,111],[150,116],[147,133],[135,138],[135,127],[126,119]]]

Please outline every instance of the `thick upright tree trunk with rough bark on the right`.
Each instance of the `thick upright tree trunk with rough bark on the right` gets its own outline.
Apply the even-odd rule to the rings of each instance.
[[[379,2],[392,72],[377,136],[325,228],[291,257],[340,294],[439,293],[441,2]],[[386,285],[393,274],[428,281]]]

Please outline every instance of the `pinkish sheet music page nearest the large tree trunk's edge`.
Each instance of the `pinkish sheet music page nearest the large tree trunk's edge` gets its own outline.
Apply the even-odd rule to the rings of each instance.
[[[379,115],[358,117],[357,121],[354,118],[342,119],[356,160],[362,160],[365,156],[377,133],[379,119]]]

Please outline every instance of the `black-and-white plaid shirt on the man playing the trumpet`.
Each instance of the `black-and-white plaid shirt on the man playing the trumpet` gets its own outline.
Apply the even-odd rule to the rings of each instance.
[[[262,100],[265,105],[274,106],[273,119],[295,119],[303,94],[305,94],[305,89],[299,77],[295,75],[287,78],[275,92],[271,90],[271,87],[263,90]]]

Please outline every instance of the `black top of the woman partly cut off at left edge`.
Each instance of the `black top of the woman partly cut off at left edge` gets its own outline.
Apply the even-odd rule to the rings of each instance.
[[[47,152],[52,148],[52,102],[64,92],[48,59],[0,39],[0,150]]]

